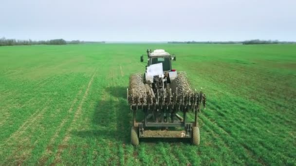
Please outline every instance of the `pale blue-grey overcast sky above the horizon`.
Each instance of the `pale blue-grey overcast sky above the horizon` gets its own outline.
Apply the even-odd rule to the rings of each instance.
[[[0,37],[296,41],[296,0],[0,0]]]

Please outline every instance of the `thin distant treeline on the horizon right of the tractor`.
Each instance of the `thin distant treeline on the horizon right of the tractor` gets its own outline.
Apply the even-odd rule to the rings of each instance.
[[[278,41],[278,40],[245,40],[245,41],[170,41],[167,43],[172,44],[296,44],[291,41]]]

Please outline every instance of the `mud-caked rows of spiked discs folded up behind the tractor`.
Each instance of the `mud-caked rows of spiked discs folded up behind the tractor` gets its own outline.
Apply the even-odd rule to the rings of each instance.
[[[141,74],[133,74],[129,78],[129,89],[127,100],[130,110],[147,108],[148,110],[170,110],[171,112],[199,111],[200,105],[205,107],[205,94],[192,90],[189,83],[182,84],[179,80],[184,79],[184,75],[179,74],[176,79],[177,87],[172,91],[168,86],[164,89],[157,89],[155,92],[148,84],[143,83]],[[181,86],[183,85],[183,86]]]

